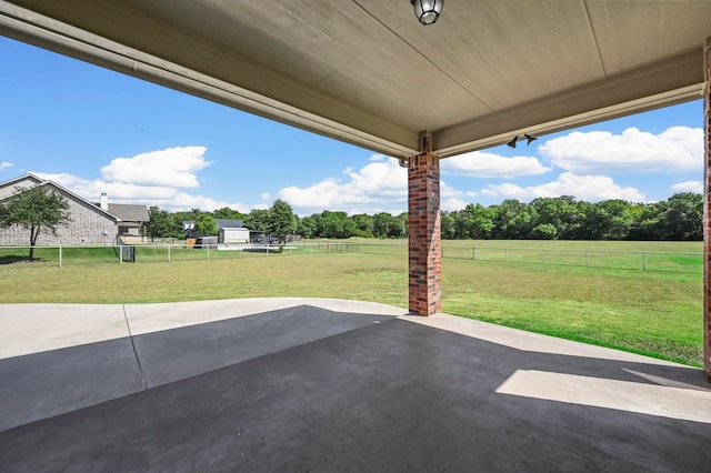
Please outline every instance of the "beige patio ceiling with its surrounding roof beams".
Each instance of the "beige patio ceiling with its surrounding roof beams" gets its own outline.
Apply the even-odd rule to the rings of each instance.
[[[448,0],[422,27],[408,0],[0,0],[0,33],[392,157],[427,130],[449,157],[699,98],[711,1]]]

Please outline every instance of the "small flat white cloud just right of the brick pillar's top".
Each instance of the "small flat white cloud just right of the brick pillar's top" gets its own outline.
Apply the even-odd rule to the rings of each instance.
[[[442,173],[469,175],[473,178],[515,178],[520,175],[543,174],[550,171],[537,158],[504,158],[499,154],[473,151],[443,159],[440,162]]]

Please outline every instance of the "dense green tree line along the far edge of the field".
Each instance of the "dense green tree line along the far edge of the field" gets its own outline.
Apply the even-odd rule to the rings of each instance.
[[[348,215],[324,210],[299,218],[284,201],[269,209],[240,213],[229,208],[168,212],[150,208],[149,236],[184,238],[182,222],[192,220],[201,234],[217,234],[214,219],[242,220],[244,227],[283,241],[286,235],[347,239],[408,236],[408,214],[387,212]],[[441,212],[442,239],[448,240],[703,240],[703,195],[682,192],[655,203],[611,199],[595,203],[574,197],[539,198],[529,203],[515,199],[483,207],[470,203]]]

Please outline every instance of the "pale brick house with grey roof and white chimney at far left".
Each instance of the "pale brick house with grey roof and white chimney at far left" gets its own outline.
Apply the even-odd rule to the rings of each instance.
[[[138,235],[141,223],[149,220],[144,205],[110,204],[106,194],[101,195],[101,202],[93,203],[34,174],[0,183],[0,201],[34,185],[47,185],[67,199],[70,215],[66,225],[57,228],[57,236],[42,232],[37,241],[39,245],[113,244],[121,234]],[[0,229],[0,245],[26,245],[29,240],[29,231],[21,227]]]

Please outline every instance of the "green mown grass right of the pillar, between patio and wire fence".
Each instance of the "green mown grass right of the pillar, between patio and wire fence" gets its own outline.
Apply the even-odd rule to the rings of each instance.
[[[457,260],[442,272],[448,313],[702,365],[698,275]]]

